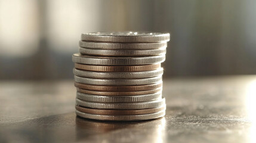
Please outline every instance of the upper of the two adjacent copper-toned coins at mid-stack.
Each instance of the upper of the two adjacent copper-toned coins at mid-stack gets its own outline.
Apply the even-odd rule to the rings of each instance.
[[[150,85],[137,85],[137,86],[99,86],[99,85],[85,85],[75,82],[76,88],[86,89],[90,91],[147,91],[162,87],[162,81]]]

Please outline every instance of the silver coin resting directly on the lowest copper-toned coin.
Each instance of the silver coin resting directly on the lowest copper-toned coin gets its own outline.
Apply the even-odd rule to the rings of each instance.
[[[156,108],[165,105],[165,98],[146,102],[128,102],[128,103],[103,103],[103,102],[90,102],[83,101],[76,98],[76,105],[82,107],[99,108],[99,109],[119,109],[119,110],[131,110],[131,109],[146,109]]]

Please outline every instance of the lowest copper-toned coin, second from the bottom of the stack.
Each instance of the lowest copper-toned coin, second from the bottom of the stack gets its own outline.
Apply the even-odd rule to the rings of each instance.
[[[156,108],[148,108],[141,110],[98,110],[94,108],[86,108],[76,106],[76,110],[88,114],[101,114],[101,115],[138,115],[138,114],[151,114],[165,110],[166,105]]]

